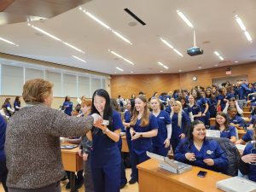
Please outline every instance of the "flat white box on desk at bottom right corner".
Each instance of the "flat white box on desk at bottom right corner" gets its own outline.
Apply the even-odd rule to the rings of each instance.
[[[218,181],[216,186],[226,192],[256,192],[256,183],[243,177],[230,177]]]

